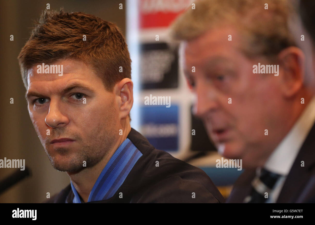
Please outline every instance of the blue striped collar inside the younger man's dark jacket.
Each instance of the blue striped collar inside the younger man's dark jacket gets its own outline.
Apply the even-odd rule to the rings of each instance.
[[[123,184],[131,169],[135,166],[142,153],[127,138],[116,150],[108,161],[100,176],[97,178],[88,202],[100,201],[111,198]],[[80,196],[72,182],[71,188],[74,194],[73,203],[81,203]]]

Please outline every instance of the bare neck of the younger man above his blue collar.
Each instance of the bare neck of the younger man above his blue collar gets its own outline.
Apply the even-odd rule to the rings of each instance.
[[[70,180],[72,181],[73,186],[76,188],[77,193],[81,196],[84,202],[87,202],[89,199],[90,192],[97,180],[100,176],[100,173],[103,171],[104,167],[114,155],[118,147],[123,143],[124,140],[127,139],[127,136],[131,130],[129,117],[123,119],[120,123],[120,128],[118,128],[117,133],[120,129],[122,129],[123,135],[117,136],[116,143],[108,150],[107,154],[93,167],[86,167],[79,172],[67,172]]]

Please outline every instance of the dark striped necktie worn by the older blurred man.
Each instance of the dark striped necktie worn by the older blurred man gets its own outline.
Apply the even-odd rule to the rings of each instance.
[[[261,169],[260,176],[252,181],[251,194],[244,199],[244,203],[264,203],[267,200],[265,193],[269,197],[279,177],[279,174]]]

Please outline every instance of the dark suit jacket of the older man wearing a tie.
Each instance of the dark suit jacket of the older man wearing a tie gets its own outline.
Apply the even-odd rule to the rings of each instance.
[[[304,161],[304,167],[301,166]],[[255,169],[245,170],[235,182],[228,203],[242,203],[250,194]],[[308,202],[315,196],[315,125],[308,133],[284,182],[276,203]]]

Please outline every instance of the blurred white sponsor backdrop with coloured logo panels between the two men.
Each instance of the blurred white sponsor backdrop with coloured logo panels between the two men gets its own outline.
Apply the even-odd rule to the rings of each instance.
[[[140,115],[140,132],[155,148],[168,151],[203,169],[218,186],[221,194],[227,197],[242,171],[237,168],[216,168],[216,160],[221,159],[221,155],[209,140],[202,121],[192,113],[194,96],[180,69],[179,46],[168,36],[171,23],[185,9],[192,7],[193,1],[129,1],[130,4],[131,2],[137,2],[138,5],[138,14],[129,14],[132,15],[130,17],[127,14],[126,19],[133,26],[138,24],[138,42],[134,43],[138,46],[139,60],[134,65],[138,68],[138,73],[133,71],[132,76],[133,79],[137,77],[140,83],[137,90],[139,97],[134,104]],[[145,99],[151,99],[151,96],[169,99],[169,107],[161,103],[158,106],[146,104]]]

